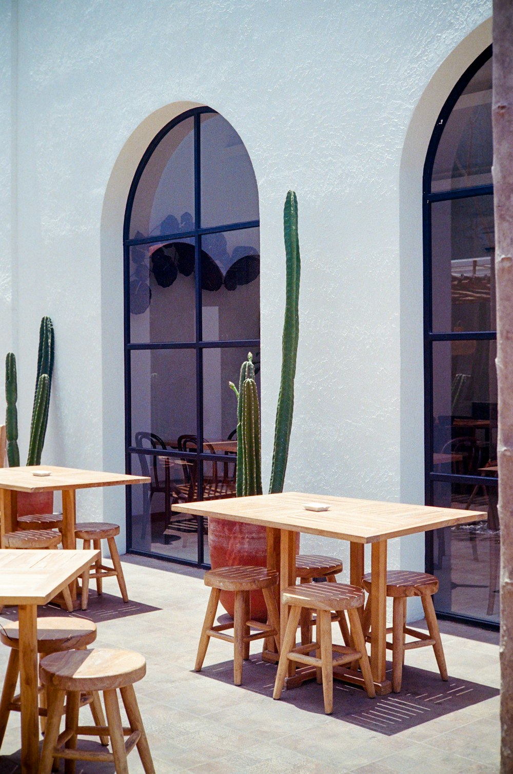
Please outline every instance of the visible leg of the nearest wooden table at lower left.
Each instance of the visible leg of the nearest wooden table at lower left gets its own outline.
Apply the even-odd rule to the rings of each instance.
[[[39,766],[37,605],[19,605],[19,683],[22,711],[22,774]]]

